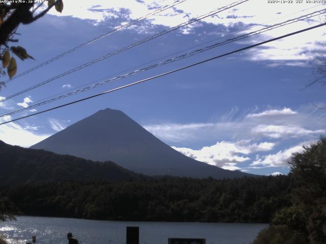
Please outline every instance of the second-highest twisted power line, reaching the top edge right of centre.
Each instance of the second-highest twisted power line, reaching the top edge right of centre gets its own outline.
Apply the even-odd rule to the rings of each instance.
[[[232,3],[232,4],[229,4],[229,5],[227,5],[227,6],[224,6],[224,7],[222,7],[222,8],[218,8],[218,9],[216,9],[216,10],[213,10],[213,11],[207,13],[207,14],[201,15],[201,16],[199,16],[199,17],[197,17],[197,18],[194,18],[194,19],[188,20],[188,21],[186,21],[186,22],[183,22],[183,23],[181,23],[181,24],[178,24],[178,25],[176,25],[176,26],[174,26],[174,27],[172,27],[172,28],[169,28],[169,29],[167,29],[167,30],[165,30],[165,31],[163,31],[163,32],[157,33],[157,34],[155,34],[155,35],[153,35],[153,36],[151,36],[151,37],[148,37],[148,38],[145,38],[145,39],[143,39],[143,40],[141,40],[141,41],[138,41],[138,42],[135,42],[135,43],[133,43],[133,44],[130,44],[129,46],[123,47],[123,48],[121,48],[121,49],[119,49],[119,50],[117,50],[117,51],[114,51],[114,52],[112,52],[112,53],[108,53],[108,54],[106,54],[106,55],[104,55],[104,56],[101,56],[101,57],[99,57],[99,58],[96,58],[96,59],[92,60],[91,62],[88,62],[88,63],[83,64],[83,65],[81,65],[81,66],[75,67],[75,68],[73,68],[73,69],[71,69],[71,70],[69,70],[69,71],[66,71],[66,72],[64,72],[64,73],[62,73],[62,74],[60,74],[60,75],[54,76],[54,77],[52,77],[52,78],[50,78],[50,79],[47,79],[47,80],[45,80],[45,81],[43,81],[43,82],[40,82],[40,83],[38,83],[38,84],[36,84],[36,85],[33,85],[33,86],[29,87],[29,88],[26,88],[26,89],[24,89],[24,90],[21,90],[21,91],[18,92],[18,93],[15,93],[15,94],[13,94],[13,95],[10,95],[10,96],[8,96],[8,97],[6,97],[6,98],[0,100],[0,103],[1,103],[1,102],[4,102],[4,101],[6,101],[6,100],[8,100],[8,99],[10,99],[10,98],[16,97],[16,96],[18,96],[18,95],[20,95],[20,94],[23,94],[23,93],[25,93],[25,92],[28,92],[28,91],[30,91],[30,90],[32,90],[32,89],[35,89],[35,88],[37,88],[37,87],[39,87],[39,86],[42,86],[42,85],[44,85],[44,84],[46,84],[46,83],[48,83],[48,82],[50,82],[50,81],[56,80],[56,79],[58,79],[58,78],[61,78],[61,77],[63,77],[63,76],[66,76],[66,75],[68,75],[68,74],[70,74],[70,73],[73,73],[73,72],[75,72],[75,71],[78,71],[78,70],[81,70],[81,69],[83,69],[83,68],[86,68],[86,67],[88,67],[88,66],[90,66],[90,65],[93,65],[93,64],[95,64],[95,63],[97,63],[97,62],[100,62],[100,61],[103,60],[103,59],[106,59],[106,58],[108,58],[108,57],[114,56],[114,55],[116,55],[116,54],[118,54],[118,53],[120,53],[120,52],[123,52],[123,51],[125,51],[125,50],[128,50],[128,49],[130,49],[130,48],[132,48],[132,47],[138,46],[138,45],[140,45],[140,44],[142,44],[142,43],[148,42],[148,41],[153,40],[153,39],[155,39],[155,38],[158,38],[158,37],[160,37],[160,36],[162,36],[162,35],[165,35],[165,34],[168,34],[168,33],[170,33],[170,32],[173,32],[173,31],[175,31],[176,29],[179,29],[179,28],[184,27],[184,26],[186,26],[186,25],[189,25],[189,24],[191,24],[191,23],[197,22],[197,21],[199,21],[199,20],[201,20],[201,19],[207,18],[207,17],[209,17],[209,16],[212,16],[212,15],[214,15],[214,14],[220,13],[220,12],[222,12],[222,11],[225,11],[225,10],[227,10],[227,9],[230,9],[230,8],[232,8],[232,7],[234,7],[234,6],[237,6],[237,5],[239,5],[239,4],[242,4],[242,3],[244,3],[244,2],[248,2],[248,1],[249,1],[249,0],[240,0],[240,1],[234,2],[234,3]]]

